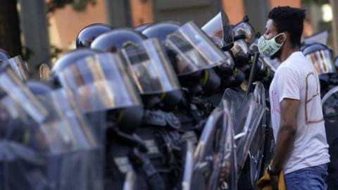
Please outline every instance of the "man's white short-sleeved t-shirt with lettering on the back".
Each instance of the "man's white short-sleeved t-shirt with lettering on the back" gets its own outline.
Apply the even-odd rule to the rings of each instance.
[[[300,101],[296,139],[284,165],[285,174],[329,163],[318,74],[301,51],[292,53],[277,68],[269,94],[276,141],[280,128],[280,102],[286,98]]]

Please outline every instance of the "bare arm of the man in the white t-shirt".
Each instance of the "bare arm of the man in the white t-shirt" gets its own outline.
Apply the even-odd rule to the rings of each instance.
[[[271,170],[280,172],[289,156],[297,131],[299,100],[284,99],[280,102],[280,129],[277,134],[275,156]]]

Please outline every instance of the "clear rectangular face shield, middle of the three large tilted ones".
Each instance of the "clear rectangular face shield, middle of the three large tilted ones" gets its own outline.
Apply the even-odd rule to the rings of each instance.
[[[180,89],[175,70],[158,39],[126,44],[122,53],[141,94],[159,94]]]

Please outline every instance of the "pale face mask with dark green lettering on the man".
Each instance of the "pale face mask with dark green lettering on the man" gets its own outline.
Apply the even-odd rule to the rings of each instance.
[[[279,37],[284,33],[277,34],[272,39],[265,39],[263,35],[258,39],[258,51],[259,53],[262,53],[264,56],[271,57],[273,56],[285,42],[285,39],[283,40],[282,44],[278,44],[275,39],[276,37]],[[284,34],[285,35],[285,34]]]

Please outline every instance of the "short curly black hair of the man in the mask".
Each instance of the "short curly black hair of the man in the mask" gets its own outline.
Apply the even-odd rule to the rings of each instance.
[[[273,20],[277,32],[288,32],[292,46],[301,46],[301,34],[306,11],[290,6],[277,6],[269,12],[268,18]]]

